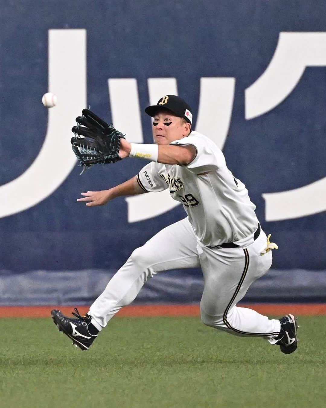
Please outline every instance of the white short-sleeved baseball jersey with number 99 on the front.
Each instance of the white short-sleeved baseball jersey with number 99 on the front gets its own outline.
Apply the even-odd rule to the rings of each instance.
[[[150,162],[137,175],[141,188],[150,192],[169,188],[171,197],[183,204],[203,245],[252,244],[258,226],[256,206],[250,201],[245,184],[227,168],[218,146],[195,131],[170,144],[193,145],[194,160],[186,166]]]

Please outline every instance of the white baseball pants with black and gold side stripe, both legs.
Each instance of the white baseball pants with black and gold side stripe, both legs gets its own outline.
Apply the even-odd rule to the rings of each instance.
[[[260,255],[266,243],[261,230],[246,248],[209,248],[198,242],[187,218],[178,221],[133,251],[90,307],[92,323],[99,330],[105,327],[156,273],[200,266],[204,276],[200,301],[203,323],[239,336],[262,336],[274,344],[280,333],[279,320],[236,306],[252,282],[271,266],[271,251]]]

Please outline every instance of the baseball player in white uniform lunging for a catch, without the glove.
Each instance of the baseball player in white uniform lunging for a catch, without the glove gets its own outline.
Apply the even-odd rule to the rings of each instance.
[[[187,217],[137,248],[112,277],[104,292],[77,318],[59,310],[51,314],[75,346],[88,350],[98,333],[123,306],[130,304],[147,279],[169,269],[201,267],[204,277],[200,315],[204,324],[238,336],[259,336],[283,353],[297,348],[296,317],[269,319],[238,307],[249,286],[272,263],[269,242],[248,191],[226,166],[225,157],[208,137],[192,131],[192,109],[175,95],[163,96],[145,112],[153,118],[155,144],[121,139],[119,156],[149,163],[130,180],[109,190],[88,191],[77,201],[106,204],[115,197],[169,189]],[[155,279],[155,278],[154,278]]]

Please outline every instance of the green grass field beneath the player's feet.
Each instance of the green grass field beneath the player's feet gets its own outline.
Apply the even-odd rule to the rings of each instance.
[[[193,317],[115,318],[82,352],[48,319],[0,319],[1,407],[324,407],[326,317],[298,349]]]

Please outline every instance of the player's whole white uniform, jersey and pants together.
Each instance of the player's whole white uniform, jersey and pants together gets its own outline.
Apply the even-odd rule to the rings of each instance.
[[[169,188],[188,215],[163,228],[136,248],[90,307],[98,329],[121,307],[130,304],[143,284],[169,269],[198,268],[204,276],[200,317],[204,324],[240,336],[262,336],[278,341],[281,324],[255,310],[238,307],[252,282],[271,266],[264,231],[253,240],[258,226],[255,206],[247,189],[227,169],[223,153],[206,136],[191,132],[172,144],[192,144],[196,157],[186,166],[150,162],[137,175],[145,191]],[[233,242],[240,248],[219,245]]]

